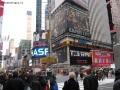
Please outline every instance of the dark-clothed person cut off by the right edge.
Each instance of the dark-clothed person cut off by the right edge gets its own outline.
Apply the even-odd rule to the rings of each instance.
[[[120,90],[120,69],[115,71],[115,82],[113,90]]]

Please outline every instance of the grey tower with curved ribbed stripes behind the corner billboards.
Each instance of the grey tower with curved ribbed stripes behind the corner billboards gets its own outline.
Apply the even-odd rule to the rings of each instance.
[[[91,39],[111,44],[108,12],[105,0],[89,0],[89,26]]]

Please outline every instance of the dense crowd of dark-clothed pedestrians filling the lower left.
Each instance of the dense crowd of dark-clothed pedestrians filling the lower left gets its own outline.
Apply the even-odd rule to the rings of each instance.
[[[52,85],[55,83],[55,74],[52,75],[49,85],[42,72],[33,74],[33,71],[30,70],[29,72],[0,73],[0,87],[3,86],[2,90],[28,90],[28,87],[30,90],[52,90]]]

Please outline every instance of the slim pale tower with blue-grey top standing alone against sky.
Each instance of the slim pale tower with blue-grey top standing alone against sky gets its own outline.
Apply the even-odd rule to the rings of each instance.
[[[26,31],[26,39],[32,39],[32,12],[27,11],[27,31]]]

